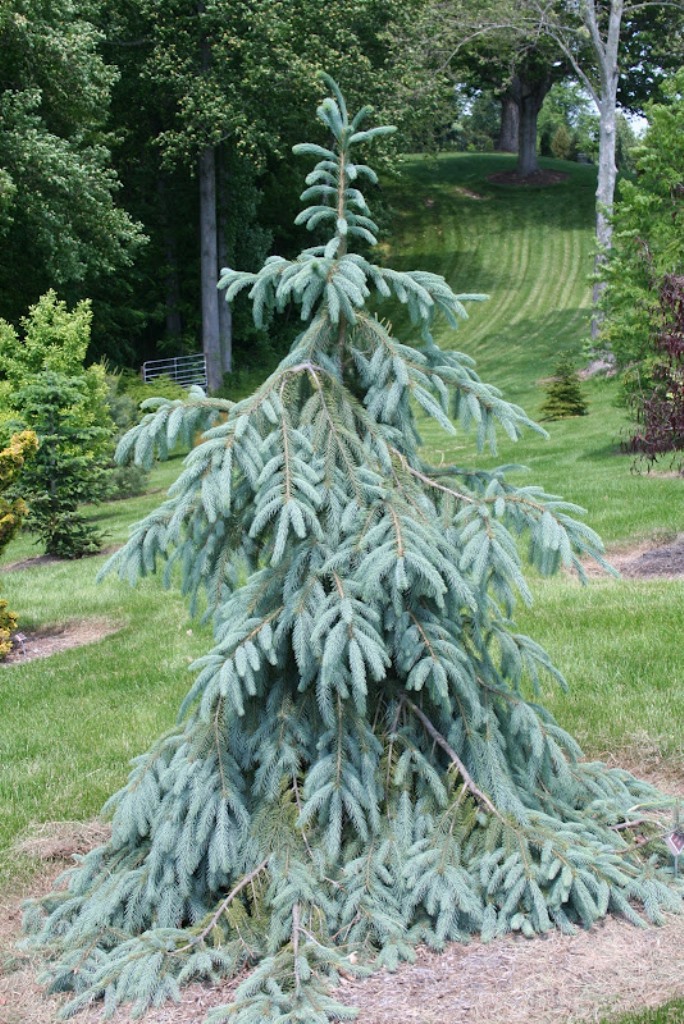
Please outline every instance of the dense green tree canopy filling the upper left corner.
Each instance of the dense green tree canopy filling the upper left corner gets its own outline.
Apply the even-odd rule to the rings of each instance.
[[[72,0],[0,11],[0,315],[17,323],[46,290],[112,292],[143,242],[118,204],[108,112],[115,70]]]

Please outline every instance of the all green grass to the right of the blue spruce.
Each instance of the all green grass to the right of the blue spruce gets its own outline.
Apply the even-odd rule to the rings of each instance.
[[[444,273],[461,292],[488,292],[469,304],[458,334],[437,332],[443,345],[472,355],[484,380],[535,416],[539,381],[559,349],[579,353],[589,331],[595,171],[544,161],[569,172],[547,188],[495,185],[487,175],[512,166],[501,155],[443,155],[405,163],[405,182],[390,190],[398,212],[390,257],[402,267]],[[473,198],[475,194],[479,199]],[[397,317],[398,321],[398,317]],[[397,324],[398,326],[398,324]],[[590,414],[547,424],[549,438],[504,439],[496,457],[473,455],[462,435],[425,423],[437,461],[522,463],[521,480],[588,509],[587,520],[608,544],[684,529],[684,482],[635,473],[621,454],[624,412],[616,388],[584,385]],[[592,754],[661,753],[684,763],[684,584],[599,580],[582,588],[567,578],[538,581],[536,602],[517,622],[551,652],[570,683],[546,703]]]

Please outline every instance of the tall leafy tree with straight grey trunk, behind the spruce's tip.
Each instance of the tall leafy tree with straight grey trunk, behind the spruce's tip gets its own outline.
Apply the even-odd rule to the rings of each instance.
[[[386,99],[402,68],[392,59],[390,27],[419,5],[340,0],[322,17],[315,0],[141,0],[151,42],[143,76],[166,104],[158,142],[168,165],[197,174],[210,391],[231,365],[229,309],[219,303],[216,282],[236,255],[225,244],[241,216],[233,209],[236,160],[259,170],[283,158],[317,94],[323,67],[339,73],[352,94]]]

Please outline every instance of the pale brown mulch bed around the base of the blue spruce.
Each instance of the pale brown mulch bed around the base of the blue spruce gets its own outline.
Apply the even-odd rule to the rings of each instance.
[[[46,892],[61,858],[83,853],[106,837],[98,823],[52,823],[25,837],[19,848],[45,865],[30,892]],[[55,865],[55,857],[58,865]],[[0,896],[0,1021],[54,1024],[61,997],[47,997],[37,982],[40,959],[16,948],[19,894]],[[214,1007],[229,1002],[238,981],[190,985],[178,1005],[149,1010],[141,1024],[201,1024]],[[660,928],[636,929],[608,919],[574,936],[552,933],[527,940],[508,936],[483,945],[450,944],[442,953],[417,950],[415,964],[393,974],[345,980],[341,1000],[359,1009],[359,1024],[569,1024],[608,1012],[658,1006],[684,996],[684,916]],[[101,1004],[80,1014],[81,1024],[101,1021]],[[111,1018],[130,1022],[130,1008]]]

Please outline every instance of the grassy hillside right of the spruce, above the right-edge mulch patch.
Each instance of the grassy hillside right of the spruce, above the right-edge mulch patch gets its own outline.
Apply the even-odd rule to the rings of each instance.
[[[469,321],[457,333],[441,327],[441,345],[471,355],[480,376],[539,417],[541,382],[557,354],[582,366],[589,337],[594,252],[593,167],[544,160],[567,178],[546,187],[494,184],[489,175],[512,169],[500,154],[445,154],[405,158],[402,175],[386,186],[392,230],[387,245],[394,265],[442,273],[459,292],[483,292],[469,303]],[[635,473],[621,451],[628,435],[614,382],[584,384],[589,415],[545,424],[547,440],[529,435],[503,439],[484,464],[521,463],[529,482],[561,494],[589,510],[608,543],[633,543],[684,528],[681,480]],[[424,440],[444,461],[482,464],[468,442],[426,424]],[[657,484],[654,479],[657,477]]]

